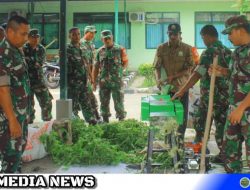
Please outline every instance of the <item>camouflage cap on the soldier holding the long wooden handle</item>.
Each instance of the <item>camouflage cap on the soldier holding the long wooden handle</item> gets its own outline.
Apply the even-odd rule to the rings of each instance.
[[[225,22],[225,29],[221,32],[222,34],[229,34],[234,28],[241,27],[241,26],[250,26],[249,22],[247,21],[247,17],[244,15],[240,16],[233,16],[227,19]]]

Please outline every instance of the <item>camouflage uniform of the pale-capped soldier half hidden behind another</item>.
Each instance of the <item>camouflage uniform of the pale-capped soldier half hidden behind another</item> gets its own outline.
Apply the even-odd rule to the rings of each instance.
[[[89,42],[86,40],[81,41],[81,49],[83,51],[83,55],[87,61],[88,65],[93,65],[94,64],[94,52],[95,52],[95,46],[93,42]],[[95,116],[97,119],[100,119],[100,115],[98,112],[98,103],[96,100],[96,97],[93,93],[92,86],[91,86],[91,81],[88,80],[88,96],[90,98],[90,102],[92,105],[92,109],[94,110]]]

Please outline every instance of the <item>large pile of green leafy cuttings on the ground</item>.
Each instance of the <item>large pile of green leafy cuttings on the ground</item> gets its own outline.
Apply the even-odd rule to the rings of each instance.
[[[111,165],[143,160],[144,155],[138,152],[147,145],[148,127],[142,122],[125,120],[87,126],[84,121],[76,119],[72,120],[71,126],[72,145],[65,144],[55,131],[41,137],[57,164]]]

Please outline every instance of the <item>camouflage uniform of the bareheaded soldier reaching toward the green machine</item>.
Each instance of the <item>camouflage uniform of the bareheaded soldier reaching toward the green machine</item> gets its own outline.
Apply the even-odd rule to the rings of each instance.
[[[200,79],[200,104],[198,110],[194,113],[194,128],[196,130],[196,142],[202,142],[204,136],[206,117],[209,102],[210,79],[208,69],[213,64],[213,58],[218,55],[218,65],[228,68],[231,59],[231,51],[216,41],[208,47],[201,55],[200,64],[196,67],[195,72],[201,75]],[[214,89],[213,118],[216,126],[215,140],[221,150],[224,125],[226,123],[226,112],[228,108],[228,86],[227,77],[217,77]]]

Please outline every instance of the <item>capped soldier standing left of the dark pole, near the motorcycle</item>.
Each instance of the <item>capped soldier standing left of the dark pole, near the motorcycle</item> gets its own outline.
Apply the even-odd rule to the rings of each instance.
[[[35,120],[35,99],[34,95],[42,109],[42,120],[50,121],[52,119],[52,95],[48,87],[45,85],[43,78],[43,64],[46,59],[45,48],[40,44],[40,34],[38,29],[31,29],[28,36],[28,42],[23,46],[25,61],[28,65],[30,87],[31,87],[31,103],[32,111],[30,115],[30,123]]]

